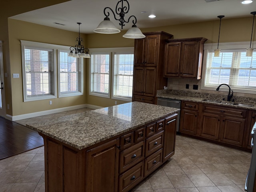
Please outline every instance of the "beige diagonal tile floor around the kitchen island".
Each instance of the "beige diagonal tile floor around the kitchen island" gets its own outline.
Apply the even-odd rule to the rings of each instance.
[[[21,120],[64,116],[87,108]],[[132,192],[242,192],[249,152],[177,135],[174,156]],[[44,147],[0,161],[0,192],[44,192]]]

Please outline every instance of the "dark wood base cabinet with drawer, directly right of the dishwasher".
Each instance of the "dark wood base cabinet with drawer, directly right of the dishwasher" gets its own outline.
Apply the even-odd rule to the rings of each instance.
[[[181,104],[180,132],[196,135],[198,122],[198,106],[195,102],[184,102]]]

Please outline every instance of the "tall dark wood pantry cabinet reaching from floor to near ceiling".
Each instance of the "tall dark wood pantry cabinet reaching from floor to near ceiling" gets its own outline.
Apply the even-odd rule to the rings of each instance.
[[[132,101],[157,104],[156,90],[167,86],[164,78],[164,48],[172,34],[163,31],[143,33],[135,39]]]

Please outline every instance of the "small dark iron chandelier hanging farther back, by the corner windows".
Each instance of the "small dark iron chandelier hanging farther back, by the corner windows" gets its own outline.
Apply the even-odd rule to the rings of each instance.
[[[76,58],[79,58],[79,57],[91,58],[89,53],[88,53],[89,49],[84,48],[84,46],[81,45],[81,42],[83,42],[83,39],[80,38],[80,24],[82,24],[82,23],[77,23],[77,24],[79,25],[79,37],[76,38],[76,41],[78,42],[78,45],[75,45],[74,47],[70,47],[70,53],[68,54],[68,56],[76,57]],[[75,51],[75,53],[73,51]]]

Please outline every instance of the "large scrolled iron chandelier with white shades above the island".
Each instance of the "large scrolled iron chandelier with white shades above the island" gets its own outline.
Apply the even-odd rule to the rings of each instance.
[[[124,5],[124,3],[126,5]],[[146,36],[142,34],[139,28],[137,28],[136,23],[137,23],[137,18],[132,15],[128,18],[126,21],[124,19],[125,14],[129,12],[130,5],[127,0],[119,0],[116,4],[116,14],[110,7],[105,7],[104,8],[104,15],[106,16],[102,22],[98,25],[96,29],[94,29],[94,32],[96,33],[103,33],[103,34],[114,34],[114,33],[119,33],[120,30],[116,28],[113,22],[110,21],[109,15],[110,13],[106,11],[106,9],[109,9],[113,15],[115,20],[119,21],[119,25],[121,28],[125,26],[125,23],[128,23],[131,18],[132,19],[132,28],[130,28],[126,34],[123,35],[125,38],[132,38],[132,39],[139,39],[139,38],[145,38]],[[119,15],[120,18],[116,18],[116,15]]]

